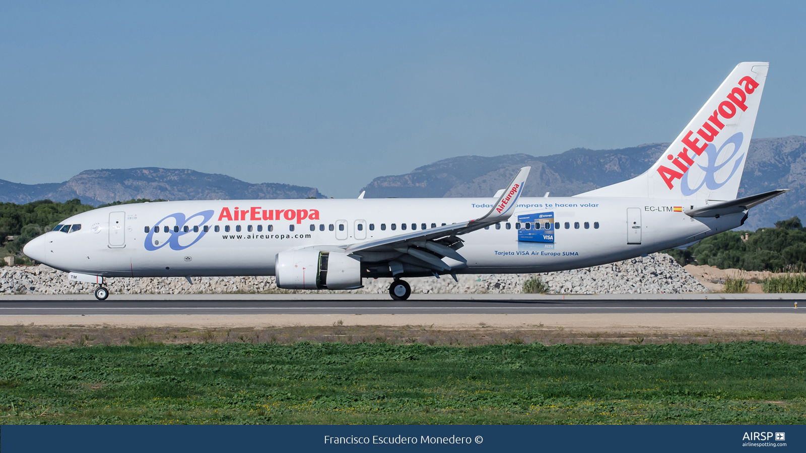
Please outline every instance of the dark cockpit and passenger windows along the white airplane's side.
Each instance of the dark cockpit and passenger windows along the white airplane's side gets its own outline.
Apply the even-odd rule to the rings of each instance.
[[[442,223],[442,226],[445,226],[445,225],[446,225],[445,223]],[[505,225],[505,228],[507,230],[512,229],[512,223],[506,222],[504,225]],[[590,222],[584,222],[583,225],[584,225],[585,230],[588,230],[591,227]],[[495,226],[496,226],[496,230],[501,230],[501,223],[496,223]],[[565,222],[563,226],[565,226],[565,229],[568,230],[568,229],[571,228],[571,222]],[[406,230],[408,227],[409,227],[408,223],[401,223],[401,230]],[[412,223],[411,224],[411,229],[412,230],[417,230],[417,227],[418,227],[417,223]],[[426,230],[427,227],[428,227],[428,224],[426,224],[426,223],[421,223],[420,224],[420,229],[421,230]],[[431,223],[431,228],[436,228],[436,227],[437,227],[436,223]],[[554,227],[555,227],[555,230],[559,230],[560,229],[560,222],[555,222]],[[344,223],[339,223],[338,228],[339,228],[339,231],[344,231]],[[364,224],[359,223],[358,225],[355,226],[355,228],[358,231],[362,231],[362,230],[364,230]],[[580,222],[574,222],[574,228],[579,230],[580,229]],[[598,229],[599,228],[599,222],[593,222],[593,228]],[[69,225],[64,225],[64,226],[57,225],[56,228],[54,229],[54,231],[60,230],[60,231],[64,231],[66,233],[67,231],[69,231],[69,229],[70,229]],[[73,225],[73,231],[77,231],[77,230],[80,230],[80,229],[81,229],[81,225]],[[172,229],[173,229],[174,233],[179,232],[179,226],[175,225],[175,226],[173,226]],[[194,233],[198,233],[199,226],[193,226],[193,228],[191,228],[190,226],[185,225],[185,226],[182,227],[182,231],[185,231],[185,233],[189,233],[191,229],[193,230]],[[317,228],[316,228],[316,225],[314,223],[311,223],[310,226],[309,226],[309,229],[310,229],[310,231],[316,231]],[[327,226],[328,231],[334,231],[335,229],[336,229],[336,226],[333,223],[330,223],[330,225]],[[397,223],[390,223],[389,224],[389,229],[392,230],[392,231],[396,231],[397,230]],[[485,226],[484,229],[489,230],[490,227]],[[515,229],[516,230],[533,230],[533,229],[534,230],[540,230],[540,229],[550,230],[551,229],[551,223],[550,222],[534,222],[534,223],[533,222],[515,222]],[[203,226],[202,230],[204,232],[208,232],[208,231],[210,231],[210,226]],[[370,231],[375,231],[375,223],[370,223],[369,224],[369,230]],[[146,226],[145,227],[145,232],[147,233],[149,231],[151,231],[151,227]],[[164,233],[169,233],[171,231],[171,227],[168,226],[168,225],[164,225],[162,227],[162,231]],[[213,231],[218,233],[219,231],[221,231],[221,227],[218,226],[218,225],[213,226]],[[224,226],[224,231],[226,233],[229,233],[230,232],[230,226],[225,225]],[[241,231],[241,226],[240,225],[235,225],[235,231],[240,232]],[[252,226],[251,225],[247,225],[247,231],[248,232],[252,231]],[[256,226],[256,231],[263,231],[263,225]],[[273,225],[267,225],[266,226],[266,231],[274,231],[274,226]],[[294,231],[294,225],[293,224],[289,225],[289,231]],[[325,224],[324,223],[319,224],[319,231],[325,231]],[[386,224],[385,223],[380,224],[380,231],[386,231]],[[154,226],[154,232],[155,233],[160,232],[160,226],[159,225]]]

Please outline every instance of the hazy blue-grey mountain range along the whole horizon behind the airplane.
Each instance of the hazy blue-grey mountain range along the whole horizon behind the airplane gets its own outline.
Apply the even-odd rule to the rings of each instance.
[[[566,197],[638,176],[669,143],[633,148],[575,148],[552,156],[508,154],[459,156],[438,160],[403,175],[376,177],[364,197],[492,197],[518,168],[531,165],[524,195]],[[743,228],[754,230],[797,215],[806,219],[806,137],[790,135],[750,141],[739,196],[791,189],[753,208]],[[132,198],[213,200],[242,198],[324,198],[318,189],[277,183],[250,184],[226,175],[173,168],[86,170],[61,183],[19,184],[0,180],[0,202],[27,203],[48,198],[80,198],[98,206]]]

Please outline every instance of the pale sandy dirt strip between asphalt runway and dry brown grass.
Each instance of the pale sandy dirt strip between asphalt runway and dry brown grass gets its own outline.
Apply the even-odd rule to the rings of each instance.
[[[806,327],[806,310],[781,313],[639,314],[88,314],[4,315],[0,326],[115,326],[189,328],[333,326],[430,326],[465,329],[552,327],[596,330],[784,330]]]

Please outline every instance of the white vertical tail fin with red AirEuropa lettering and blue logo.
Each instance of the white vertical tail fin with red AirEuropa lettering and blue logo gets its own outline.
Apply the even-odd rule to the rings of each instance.
[[[736,198],[769,63],[740,63],[652,167],[579,197]]]

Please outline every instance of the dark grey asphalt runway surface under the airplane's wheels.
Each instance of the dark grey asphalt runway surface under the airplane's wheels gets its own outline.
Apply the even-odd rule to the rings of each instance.
[[[795,302],[800,310],[795,310]],[[771,300],[523,300],[501,298],[495,301],[368,300],[176,300],[144,301],[123,296],[106,301],[0,301],[3,315],[36,314],[615,314],[615,313],[788,313],[806,311],[806,299]]]

